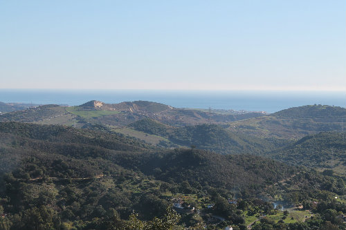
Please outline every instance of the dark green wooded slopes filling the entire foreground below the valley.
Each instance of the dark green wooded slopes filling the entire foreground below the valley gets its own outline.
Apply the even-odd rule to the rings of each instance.
[[[64,126],[2,122],[0,137],[0,229],[246,229],[256,215],[268,220],[254,229],[343,229],[338,216],[345,205],[334,197],[345,195],[345,180],[332,175],[254,155],[165,150]],[[238,203],[230,204],[235,196]],[[311,206],[315,219],[300,224],[304,228],[273,221],[269,217],[282,214],[257,197],[304,207],[318,202]],[[178,198],[185,200],[180,215],[168,208]]]

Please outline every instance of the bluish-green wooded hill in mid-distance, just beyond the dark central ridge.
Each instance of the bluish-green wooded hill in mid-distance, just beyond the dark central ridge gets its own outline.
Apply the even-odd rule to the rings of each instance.
[[[260,155],[266,151],[289,143],[286,140],[273,138],[259,138],[251,135],[235,134],[226,128],[215,124],[201,124],[175,128],[161,124],[152,119],[141,119],[129,125],[136,131],[158,135],[167,138],[165,146],[194,146],[195,148],[207,149],[221,154],[251,153]]]

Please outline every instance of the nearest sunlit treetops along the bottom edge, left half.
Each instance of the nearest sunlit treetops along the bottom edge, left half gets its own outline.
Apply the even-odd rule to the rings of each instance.
[[[153,218],[149,221],[138,219],[136,213],[129,216],[129,220],[121,220],[114,209],[104,213],[104,218],[93,218],[90,222],[62,222],[57,216],[57,212],[51,207],[40,206],[27,209],[22,215],[11,216],[10,218],[0,218],[0,229],[25,229],[25,230],[44,230],[44,229],[104,229],[104,230],[170,230],[173,229],[180,220],[173,209],[167,208],[162,218]],[[192,227],[191,230],[202,228]]]

